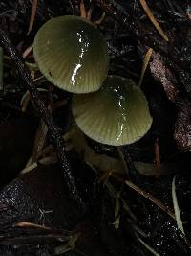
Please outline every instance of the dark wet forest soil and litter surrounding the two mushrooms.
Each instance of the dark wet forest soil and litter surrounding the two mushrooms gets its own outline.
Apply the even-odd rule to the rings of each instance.
[[[4,65],[0,89],[0,255],[64,255],[63,247],[70,248],[65,253],[68,256],[191,255],[190,2],[146,1],[168,36],[167,42],[138,0],[92,0],[93,21],[105,12],[98,29],[108,44],[109,74],[138,83],[145,54],[153,48],[141,85],[153,125],[137,143],[120,149],[100,145],[81,133],[76,135],[77,139],[83,137],[80,142],[73,134],[62,140],[61,135],[71,134],[74,128],[72,95],[45,78],[35,81],[41,74],[36,66],[32,69],[32,53],[25,62],[20,56],[47,20],[79,15],[80,1],[39,0],[32,32],[27,35],[32,2],[0,1],[0,43],[5,57],[0,63]],[[90,6],[85,1],[87,10]],[[27,91],[31,99],[22,110]],[[39,152],[35,141],[42,120],[48,132]],[[93,156],[87,157],[86,151],[94,152]],[[96,157],[101,157],[99,164]],[[156,169],[158,157],[160,166]],[[117,173],[107,176],[111,158],[123,166],[122,173],[118,165]],[[26,166],[31,171],[21,174]],[[174,216],[174,176],[185,234]],[[125,180],[136,184],[139,193],[125,185]]]

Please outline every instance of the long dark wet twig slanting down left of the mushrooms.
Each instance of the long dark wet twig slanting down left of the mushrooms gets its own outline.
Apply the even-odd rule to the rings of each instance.
[[[66,156],[64,142],[58,128],[53,124],[52,115],[47,110],[44,102],[40,99],[39,92],[37,91],[36,86],[32,81],[29,69],[25,64],[24,59],[19,55],[15,47],[12,45],[10,38],[1,27],[0,27],[0,41],[5,47],[5,49],[11,55],[11,58],[15,63],[21,78],[23,79],[23,81],[25,81],[26,89],[29,90],[29,92],[31,93],[32,103],[34,105],[36,112],[38,113],[39,116],[42,117],[43,121],[48,127],[50,141],[53,144],[53,147],[56,151],[56,154],[61,166],[62,175],[64,176],[64,180],[67,184],[69,194],[73,198],[76,205],[79,208],[81,208],[83,212],[85,210],[85,204],[77,190],[75,180],[74,180],[74,175],[72,174],[71,166]]]

